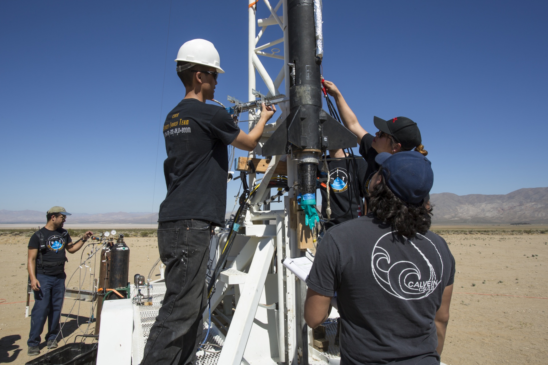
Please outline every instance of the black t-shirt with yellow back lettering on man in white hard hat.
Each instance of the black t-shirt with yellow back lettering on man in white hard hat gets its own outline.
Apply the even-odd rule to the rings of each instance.
[[[203,219],[222,226],[229,154],[239,134],[229,113],[196,99],[183,99],[164,123],[165,184],[158,222]]]

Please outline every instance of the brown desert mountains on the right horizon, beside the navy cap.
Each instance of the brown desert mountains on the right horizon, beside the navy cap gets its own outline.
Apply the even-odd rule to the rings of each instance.
[[[506,195],[430,194],[435,224],[548,224],[548,188]]]

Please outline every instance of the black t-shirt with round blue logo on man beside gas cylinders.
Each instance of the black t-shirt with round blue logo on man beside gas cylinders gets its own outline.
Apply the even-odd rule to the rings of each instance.
[[[72,243],[72,239],[66,229],[58,228],[49,230],[45,227],[40,228],[44,236],[45,248],[41,250],[42,260],[44,262],[64,262],[66,259],[66,246]],[[28,241],[28,248],[40,250],[40,239],[35,233]],[[39,257],[37,257],[37,260]],[[42,269],[36,270],[38,274],[43,274]]]

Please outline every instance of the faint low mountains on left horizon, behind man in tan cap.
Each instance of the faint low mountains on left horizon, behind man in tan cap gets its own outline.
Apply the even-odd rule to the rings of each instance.
[[[72,213],[67,223],[105,223],[105,224],[156,224],[158,213],[117,212],[117,213]],[[45,224],[45,212],[36,210],[0,210],[0,223],[42,223]]]

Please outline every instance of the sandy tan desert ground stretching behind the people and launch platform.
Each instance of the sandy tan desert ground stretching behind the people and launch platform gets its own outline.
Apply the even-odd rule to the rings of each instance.
[[[474,229],[479,228],[439,230],[455,257],[457,270],[442,362],[449,365],[548,363],[548,299],[538,299],[548,298],[548,234],[493,229],[479,234]],[[158,258],[156,238],[127,237],[125,241],[131,250],[130,278],[137,273],[146,277]],[[30,326],[30,317],[25,318],[24,303],[27,242],[28,237],[0,236],[0,277],[3,279],[0,363],[24,364],[35,358],[26,354]],[[86,248],[84,257],[88,252]],[[90,288],[93,265],[78,268],[81,253],[67,253],[68,288],[78,287],[79,280],[83,282],[83,289]],[[66,321],[63,334],[68,342],[78,333],[93,333],[95,324],[87,323],[89,315],[89,303],[65,300],[61,324]],[[47,326],[43,334],[46,332]],[[44,346],[42,343],[42,354]]]

